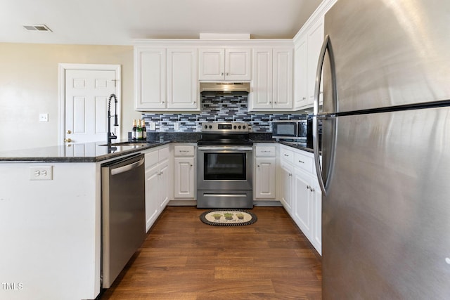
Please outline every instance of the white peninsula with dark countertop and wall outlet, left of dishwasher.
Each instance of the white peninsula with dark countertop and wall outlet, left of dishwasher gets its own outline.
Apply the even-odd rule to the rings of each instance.
[[[95,299],[101,164],[169,142],[0,152],[2,299]]]

